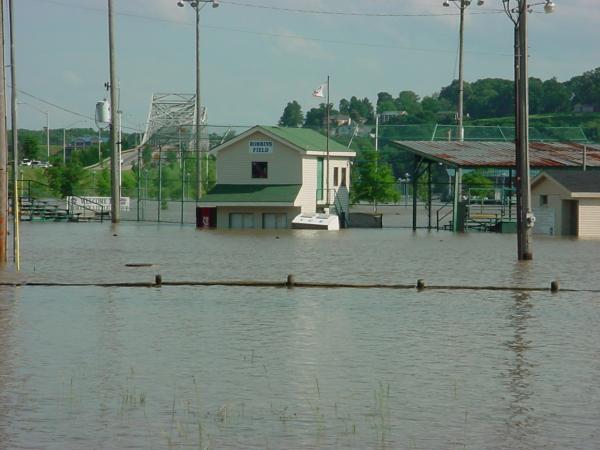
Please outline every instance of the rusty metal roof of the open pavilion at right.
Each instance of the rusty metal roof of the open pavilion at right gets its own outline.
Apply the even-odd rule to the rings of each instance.
[[[403,149],[453,167],[515,167],[514,142],[393,141]],[[585,145],[586,165],[600,169],[600,145]],[[584,145],[579,143],[530,142],[532,168],[569,168],[583,164]]]

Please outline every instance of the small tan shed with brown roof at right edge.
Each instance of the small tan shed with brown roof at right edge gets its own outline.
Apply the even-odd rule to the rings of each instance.
[[[600,237],[600,171],[546,171],[531,183],[534,233]]]

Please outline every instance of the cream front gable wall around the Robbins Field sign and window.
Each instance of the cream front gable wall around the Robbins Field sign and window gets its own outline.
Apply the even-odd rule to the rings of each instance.
[[[273,153],[252,154],[248,141],[273,142]],[[268,162],[268,178],[252,178],[252,161]],[[217,154],[218,184],[301,184],[302,154],[263,133],[224,148]]]

